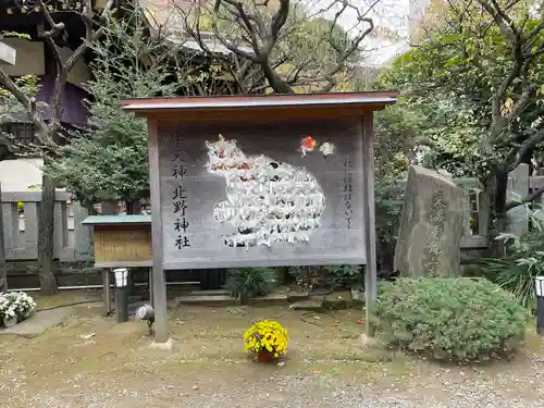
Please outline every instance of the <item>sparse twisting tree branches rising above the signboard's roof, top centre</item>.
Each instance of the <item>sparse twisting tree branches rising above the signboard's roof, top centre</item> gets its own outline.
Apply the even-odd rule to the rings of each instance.
[[[214,38],[236,57],[260,67],[269,88],[290,94],[299,88],[333,90],[338,77],[359,63],[361,48],[374,30],[368,13],[378,0],[366,10],[355,0],[325,0],[317,12],[306,10],[297,0],[212,2],[211,7],[205,1],[189,12],[182,11],[187,33],[208,53],[210,48],[202,34],[212,30]],[[357,20],[347,29],[339,22],[348,14]],[[219,52],[211,55],[223,58]]]

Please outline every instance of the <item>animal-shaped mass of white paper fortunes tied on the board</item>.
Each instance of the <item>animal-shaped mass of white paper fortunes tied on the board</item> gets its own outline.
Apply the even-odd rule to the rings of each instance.
[[[206,146],[207,170],[226,183],[226,200],[215,203],[213,217],[236,231],[223,237],[227,246],[309,240],[320,226],[325,206],[323,191],[310,172],[262,154],[246,157],[236,140],[222,136]]]

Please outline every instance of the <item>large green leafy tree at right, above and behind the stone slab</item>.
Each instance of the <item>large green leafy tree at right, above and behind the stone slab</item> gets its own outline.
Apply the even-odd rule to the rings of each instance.
[[[544,140],[544,24],[533,5],[448,3],[443,24],[379,83],[401,89],[400,109],[420,115],[415,135],[424,164],[480,178],[492,236],[505,231],[506,212],[518,205],[507,199],[508,173],[539,158]]]

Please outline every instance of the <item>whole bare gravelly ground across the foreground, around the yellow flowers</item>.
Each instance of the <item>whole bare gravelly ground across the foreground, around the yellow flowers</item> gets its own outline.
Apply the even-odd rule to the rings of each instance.
[[[287,359],[255,363],[240,333],[274,317],[293,335]],[[544,407],[544,339],[532,334],[512,361],[459,368],[362,351],[357,312],[319,324],[285,308],[171,318],[171,351],[150,349],[141,322],[115,324],[89,308],[35,338],[0,337],[0,408]]]

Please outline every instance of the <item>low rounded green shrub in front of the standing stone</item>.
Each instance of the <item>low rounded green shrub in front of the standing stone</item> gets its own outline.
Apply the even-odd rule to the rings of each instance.
[[[378,299],[372,319],[378,339],[438,360],[508,355],[526,331],[527,310],[484,279],[382,282]]]

